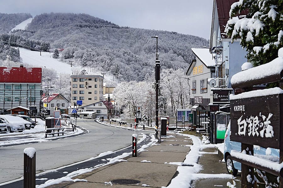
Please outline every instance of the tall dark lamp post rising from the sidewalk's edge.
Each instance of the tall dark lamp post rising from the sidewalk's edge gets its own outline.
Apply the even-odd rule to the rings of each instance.
[[[158,86],[159,86],[159,80],[160,80],[160,60],[159,60],[159,54],[157,50],[157,44],[158,44],[158,36],[154,36],[151,38],[156,38],[156,60],[155,60],[155,126],[157,127],[157,130],[155,130],[155,138],[158,137]]]

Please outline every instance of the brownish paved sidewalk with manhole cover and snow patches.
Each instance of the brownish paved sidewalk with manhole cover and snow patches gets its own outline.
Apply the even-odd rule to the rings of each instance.
[[[190,147],[185,146],[192,145],[191,139],[187,137],[187,139],[184,138],[184,136],[175,134],[171,136],[168,135],[166,138],[162,138],[160,145],[154,144],[150,146],[146,149],[147,151],[139,153],[138,157],[127,157],[124,158],[126,161],[101,167],[92,172],[75,177],[80,180],[87,180],[87,182],[63,182],[49,187],[105,188],[105,186],[110,186],[111,184],[113,188],[167,186],[170,180],[174,178],[178,167],[178,165],[169,163],[184,161],[187,153],[190,151]],[[115,183],[122,184],[121,179],[127,181],[124,182],[126,183],[125,185]]]

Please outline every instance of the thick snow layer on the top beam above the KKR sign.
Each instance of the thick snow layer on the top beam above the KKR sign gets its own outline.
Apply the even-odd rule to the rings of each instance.
[[[252,80],[258,80],[274,74],[280,74],[283,70],[283,57],[278,57],[269,63],[259,65],[251,69],[247,69],[233,75],[231,78],[231,84],[237,84],[241,82],[247,82]]]

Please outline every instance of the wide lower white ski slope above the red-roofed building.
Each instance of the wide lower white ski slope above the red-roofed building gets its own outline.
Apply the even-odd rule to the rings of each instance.
[[[49,52],[40,52],[26,50],[24,48],[19,48],[20,57],[23,60],[24,66],[25,64],[33,65],[35,67],[46,67],[49,69],[54,69],[58,73],[68,73],[72,74],[71,65],[67,63],[62,63],[58,61],[58,59],[54,59],[52,57],[53,53]]]

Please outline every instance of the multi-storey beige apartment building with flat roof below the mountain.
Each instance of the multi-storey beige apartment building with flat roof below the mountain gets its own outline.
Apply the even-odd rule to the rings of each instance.
[[[103,100],[103,76],[72,75],[71,106],[82,101],[82,106]]]

